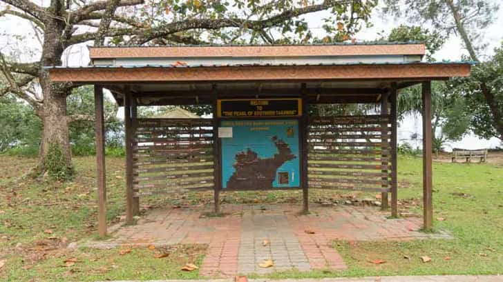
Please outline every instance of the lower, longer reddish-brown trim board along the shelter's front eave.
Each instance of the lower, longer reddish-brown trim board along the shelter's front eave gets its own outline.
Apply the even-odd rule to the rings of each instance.
[[[135,83],[183,81],[294,81],[344,79],[445,79],[470,75],[469,63],[334,66],[229,66],[202,68],[49,68],[52,81]]]

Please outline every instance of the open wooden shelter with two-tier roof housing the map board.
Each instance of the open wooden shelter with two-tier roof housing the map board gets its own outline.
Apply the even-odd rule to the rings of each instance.
[[[124,105],[127,221],[140,197],[178,189],[382,193],[397,216],[397,94],[420,84],[424,228],[431,228],[430,81],[466,77],[464,62],[426,63],[423,43],[91,48],[91,65],[50,66],[54,82],[95,85],[99,234],[106,234],[103,88]],[[371,103],[364,116],[312,105]],[[139,105],[206,105],[211,119],[138,119]],[[314,112],[314,114],[313,114]],[[310,114],[311,113],[311,114]]]

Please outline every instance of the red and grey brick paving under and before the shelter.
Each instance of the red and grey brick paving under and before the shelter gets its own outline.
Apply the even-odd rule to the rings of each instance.
[[[322,207],[310,205],[311,214],[300,215],[300,205],[222,205],[222,217],[205,217],[211,207],[152,210],[137,225],[119,228],[111,239],[88,243],[95,248],[115,245],[207,244],[200,271],[203,276],[237,273],[265,274],[296,268],[342,270],[343,259],[330,243],[348,241],[450,238],[448,234],[418,232],[421,219],[386,219],[388,212],[374,207]],[[310,232],[306,232],[309,230]],[[313,233],[314,232],[314,233]],[[312,233],[312,234],[310,234]],[[263,246],[263,241],[269,244]],[[274,267],[260,268],[272,259]]]

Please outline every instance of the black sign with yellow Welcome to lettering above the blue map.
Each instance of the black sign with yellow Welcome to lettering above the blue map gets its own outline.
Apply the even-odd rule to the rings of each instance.
[[[300,98],[286,99],[220,99],[218,117],[300,117]]]

